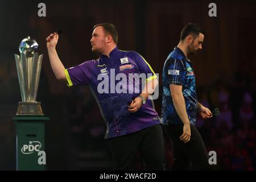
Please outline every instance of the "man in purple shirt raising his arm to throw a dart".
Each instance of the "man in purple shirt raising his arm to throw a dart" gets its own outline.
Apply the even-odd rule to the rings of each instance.
[[[134,169],[139,151],[148,170],[165,170],[162,126],[152,101],[148,100],[158,80],[147,61],[135,51],[120,51],[117,48],[117,28],[111,23],[102,23],[93,27],[90,39],[92,51],[101,55],[99,59],[65,69],[55,49],[58,38],[57,34],[46,38],[52,70],[56,78],[67,82],[68,86],[90,86],[106,123],[105,139],[112,152],[114,169]],[[145,86],[139,93],[99,92],[101,80],[98,80],[98,76],[108,76],[109,72],[111,75],[113,70],[122,75],[151,75],[144,80],[150,86]],[[130,87],[127,79],[123,82],[126,83],[123,84],[125,88]],[[131,86],[134,89],[136,85]]]

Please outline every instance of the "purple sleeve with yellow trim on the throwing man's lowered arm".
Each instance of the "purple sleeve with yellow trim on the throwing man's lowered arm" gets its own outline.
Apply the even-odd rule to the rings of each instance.
[[[135,52],[135,54],[136,54],[136,64],[139,68],[139,71],[141,73],[146,74],[146,82],[157,78],[150,64],[148,64],[147,61],[141,55],[139,55],[139,53]]]

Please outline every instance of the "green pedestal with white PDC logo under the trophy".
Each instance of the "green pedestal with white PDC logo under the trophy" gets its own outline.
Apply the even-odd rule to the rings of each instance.
[[[44,130],[48,117],[16,115],[16,170],[46,170]]]

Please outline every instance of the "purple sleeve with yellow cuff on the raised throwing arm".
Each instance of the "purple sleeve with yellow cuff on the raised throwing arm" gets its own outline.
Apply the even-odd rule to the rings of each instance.
[[[85,62],[75,67],[65,69],[68,86],[89,84],[86,65]]]

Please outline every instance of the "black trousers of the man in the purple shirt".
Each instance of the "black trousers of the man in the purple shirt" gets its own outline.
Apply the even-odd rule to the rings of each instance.
[[[163,129],[154,125],[135,133],[108,139],[114,170],[133,170],[139,150],[147,170],[165,170]]]

